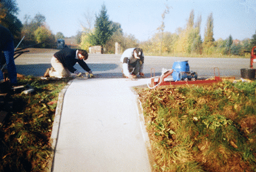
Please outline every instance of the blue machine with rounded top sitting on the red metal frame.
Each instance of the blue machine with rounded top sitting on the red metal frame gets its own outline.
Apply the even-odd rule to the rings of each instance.
[[[197,73],[190,72],[190,66],[187,61],[177,61],[173,63],[173,80],[184,81],[184,80],[196,80]]]

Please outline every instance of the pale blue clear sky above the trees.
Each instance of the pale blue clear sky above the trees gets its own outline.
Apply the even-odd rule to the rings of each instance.
[[[202,17],[200,34],[204,39],[207,18],[213,14],[213,38],[251,39],[256,33],[256,0],[16,0],[18,18],[24,23],[24,16],[34,18],[45,16],[46,24],[56,35],[65,37],[77,35],[85,26],[85,14],[93,20],[106,5],[109,20],[118,22],[127,35],[134,35],[139,41],[146,41],[157,33],[165,15],[165,31],[175,33],[185,28],[190,12],[194,9],[194,22]]]

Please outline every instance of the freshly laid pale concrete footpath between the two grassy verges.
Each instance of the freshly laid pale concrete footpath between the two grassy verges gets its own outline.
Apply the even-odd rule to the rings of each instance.
[[[131,87],[148,79],[74,79],[60,93],[50,171],[151,171],[149,139]]]

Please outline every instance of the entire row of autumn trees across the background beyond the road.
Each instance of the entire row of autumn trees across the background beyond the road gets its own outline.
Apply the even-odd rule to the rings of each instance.
[[[52,47],[56,39],[64,39],[58,32],[51,33],[42,14],[24,17],[24,24],[17,18],[18,7],[15,0],[2,0],[0,2],[0,24],[9,28],[14,35],[16,43],[24,37],[23,44],[31,45],[42,43],[41,47]],[[123,33],[121,24],[109,20],[106,5],[102,5],[100,13],[93,16],[85,14],[83,31],[77,32],[75,39],[82,49],[89,50],[94,45],[102,45],[104,53],[114,53],[114,44],[118,42],[122,51],[129,47],[142,47],[146,55],[161,56],[244,56],[244,51],[251,51],[256,45],[256,33],[251,39],[241,41],[233,40],[232,35],[226,39],[215,40],[213,37],[213,14],[209,14],[205,26],[205,35],[200,35],[201,16],[195,20],[194,10],[190,12],[184,28],[177,28],[175,33],[165,31],[165,16],[169,14],[166,6],[162,14],[161,26],[147,41],[138,41],[134,35]],[[93,24],[94,23],[94,24]]]

